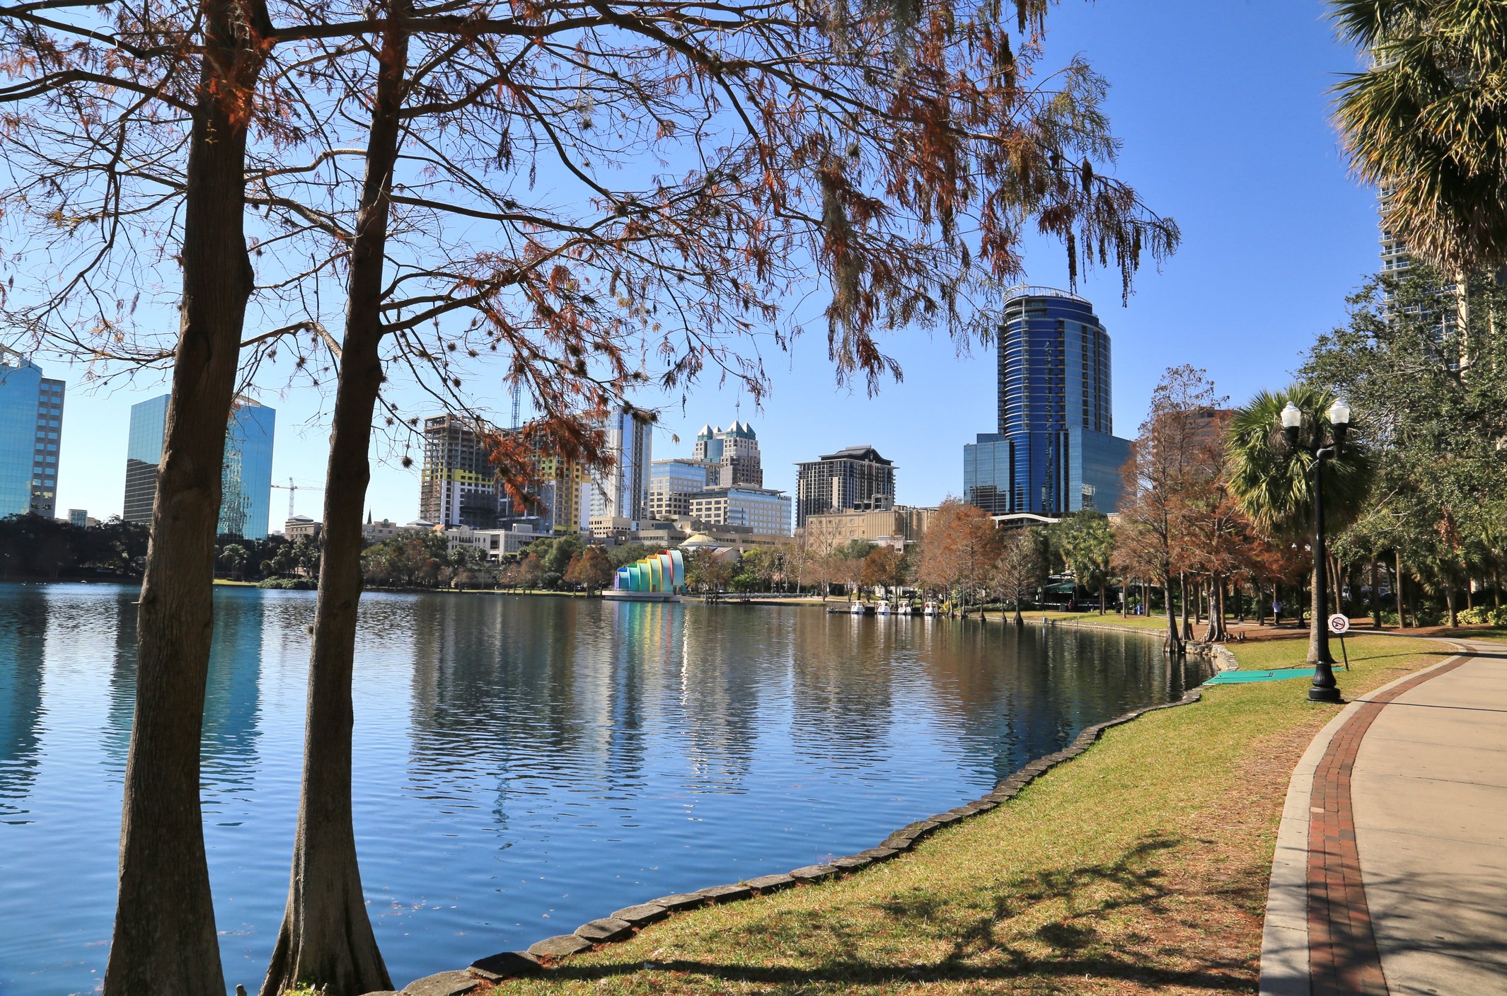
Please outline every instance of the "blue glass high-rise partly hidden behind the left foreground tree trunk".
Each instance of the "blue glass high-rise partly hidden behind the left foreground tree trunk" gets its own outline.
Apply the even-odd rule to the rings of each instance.
[[[167,437],[169,395],[131,405],[125,445],[125,508],[131,523],[152,521],[157,469]],[[220,466],[219,532],[265,539],[273,502],[273,440],[277,411],[250,398],[237,398],[225,432]]]

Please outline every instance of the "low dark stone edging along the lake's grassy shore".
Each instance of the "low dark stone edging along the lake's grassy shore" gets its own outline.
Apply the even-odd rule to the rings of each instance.
[[[1224,646],[1209,648],[1206,654],[1213,661],[1216,672],[1230,671],[1239,666],[1234,654]],[[1147,713],[1175,708],[1178,705],[1189,705],[1201,698],[1203,693],[1198,689],[1189,689],[1183,693],[1183,698],[1175,702],[1145,705],[1103,723],[1087,726],[1078,734],[1070,746],[1031,761],[1014,774],[999,782],[995,787],[995,791],[927,820],[909,823],[880,841],[877,847],[859,851],[857,854],[833,857],[830,862],[823,865],[806,865],[782,875],[760,875],[734,884],[711,886],[710,889],[701,889],[698,892],[681,892],[677,895],[660,897],[648,903],[640,903],[637,906],[628,906],[621,910],[615,910],[610,916],[582,924],[573,934],[556,934],[555,937],[546,937],[544,940],[532,943],[527,951],[503,951],[485,958],[478,958],[464,970],[439,972],[436,975],[426,975],[422,979],[414,979],[401,991],[386,990],[380,993],[366,993],[366,996],[461,996],[463,993],[470,993],[482,982],[500,982],[521,975],[535,975],[555,967],[561,963],[561,960],[568,958],[573,954],[594,951],[601,945],[627,940],[643,927],[659,922],[681,910],[692,910],[701,906],[714,906],[719,903],[734,903],[757,895],[781,892],[794,886],[809,886],[830,878],[851,875],[864,868],[868,868],[870,865],[886,862],[912,850],[919,841],[942,827],[952,826],[954,823],[960,823],[961,820],[967,820],[969,817],[975,817],[981,812],[989,812],[1001,803],[1010,802],[1020,794],[1020,790],[1050,771],[1053,767],[1062,764],[1064,761],[1071,761],[1078,755],[1088,750],[1088,747],[1111,726],[1129,723],[1130,720],[1139,719]]]

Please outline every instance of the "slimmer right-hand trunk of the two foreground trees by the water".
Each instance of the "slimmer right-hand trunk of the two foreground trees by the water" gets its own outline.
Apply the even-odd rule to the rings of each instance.
[[[372,416],[381,387],[381,286],[392,172],[408,62],[407,9],[389,8],[351,244],[345,341],[324,491],[324,567],[313,619],[303,784],[288,907],[262,996],[298,984],[330,996],[390,990],[362,894],[351,817],[351,672],[362,594],[360,511],[371,479]]]

